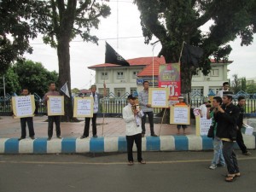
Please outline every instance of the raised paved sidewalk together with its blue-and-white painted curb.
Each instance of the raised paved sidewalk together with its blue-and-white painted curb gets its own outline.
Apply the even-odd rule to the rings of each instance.
[[[0,154],[74,154],[125,152],[125,122],[121,118],[97,119],[97,135],[80,139],[84,131],[84,119],[79,123],[61,123],[61,139],[54,137],[47,141],[47,116],[34,117],[36,139],[18,141],[20,137],[20,119],[0,117]],[[27,131],[28,132],[28,131]],[[176,125],[154,124],[154,132],[160,137],[151,137],[149,125],[146,124],[146,136],[143,137],[143,151],[200,151],[212,150],[212,138],[195,136],[195,121],[186,129],[186,135],[177,135]],[[182,132],[182,131],[181,131]],[[255,137],[244,135],[249,149],[255,149]],[[133,148],[136,151],[134,145]]]

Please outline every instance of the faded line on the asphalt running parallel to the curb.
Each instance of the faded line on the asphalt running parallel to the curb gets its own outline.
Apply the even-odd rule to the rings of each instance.
[[[237,160],[256,160],[256,157],[237,158]],[[147,161],[147,164],[176,164],[176,163],[196,163],[209,162],[211,160],[163,160]],[[24,161],[24,160],[0,160],[0,164],[44,164],[44,165],[125,165],[126,162],[61,162],[61,161]]]

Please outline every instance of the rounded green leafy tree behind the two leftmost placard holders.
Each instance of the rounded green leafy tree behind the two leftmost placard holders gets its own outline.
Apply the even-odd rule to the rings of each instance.
[[[12,68],[19,77],[21,89],[27,88],[41,97],[48,91],[49,82],[58,81],[58,73],[49,72],[40,62],[18,61]]]

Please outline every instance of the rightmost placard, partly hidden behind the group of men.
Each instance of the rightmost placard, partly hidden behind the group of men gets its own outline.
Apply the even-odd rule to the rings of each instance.
[[[212,125],[212,119],[202,117],[200,115],[195,116],[195,129],[196,136],[207,136],[207,133]]]

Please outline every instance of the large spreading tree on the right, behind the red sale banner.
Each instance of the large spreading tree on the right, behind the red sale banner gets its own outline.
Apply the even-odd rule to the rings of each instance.
[[[156,3],[157,2],[157,3]],[[201,47],[204,54],[199,66],[181,63],[182,93],[191,91],[191,79],[198,68],[204,75],[210,72],[209,56],[217,61],[227,59],[231,47],[228,44],[237,36],[241,45],[253,42],[256,32],[255,0],[135,0],[141,12],[141,25],[145,43],[154,35],[159,39],[166,63],[179,61],[183,42]],[[200,27],[212,20],[210,32]]]

